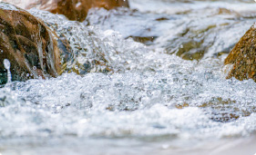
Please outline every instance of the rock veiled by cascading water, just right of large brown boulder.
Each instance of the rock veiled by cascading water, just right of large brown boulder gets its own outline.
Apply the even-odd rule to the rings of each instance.
[[[36,9],[29,13],[46,22],[58,36],[61,63],[67,73],[112,73],[113,63],[109,54],[113,49],[104,34],[96,27],[77,21],[69,21],[63,15],[55,15]],[[104,39],[105,38],[105,39]]]

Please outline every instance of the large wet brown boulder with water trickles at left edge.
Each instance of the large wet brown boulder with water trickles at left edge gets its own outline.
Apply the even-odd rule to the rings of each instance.
[[[26,11],[0,3],[0,75],[4,60],[11,63],[13,81],[56,77],[63,72],[58,38],[46,24]],[[0,79],[0,84],[6,80]]]

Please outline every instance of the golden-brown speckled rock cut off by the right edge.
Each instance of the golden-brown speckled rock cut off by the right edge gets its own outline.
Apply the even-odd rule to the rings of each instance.
[[[256,82],[256,25],[241,37],[238,44],[232,49],[225,64],[233,64],[227,78],[235,77],[238,80],[253,79]]]

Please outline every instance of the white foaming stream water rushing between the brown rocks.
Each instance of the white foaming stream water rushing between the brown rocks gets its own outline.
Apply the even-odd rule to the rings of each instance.
[[[67,68],[83,75],[0,88],[0,152],[256,152],[256,83],[227,80],[223,66],[256,21],[255,2],[129,2],[131,9],[92,9],[83,23],[29,10],[67,36]],[[96,59],[107,64],[85,72]],[[106,66],[113,72],[97,73]]]

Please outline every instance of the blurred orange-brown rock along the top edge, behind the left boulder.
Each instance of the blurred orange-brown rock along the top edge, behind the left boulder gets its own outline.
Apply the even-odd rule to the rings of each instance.
[[[128,7],[128,0],[25,0],[4,2],[19,6],[23,9],[36,7],[54,14],[66,15],[70,20],[84,21],[87,12],[92,7],[112,9],[118,6]]]

